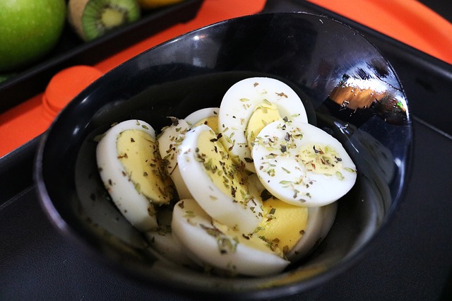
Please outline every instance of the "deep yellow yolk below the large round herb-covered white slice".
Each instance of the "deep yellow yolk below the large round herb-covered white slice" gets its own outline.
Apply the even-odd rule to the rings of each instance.
[[[308,223],[308,208],[291,205],[274,197],[263,201],[263,219],[254,231],[262,240],[283,253],[302,238]]]

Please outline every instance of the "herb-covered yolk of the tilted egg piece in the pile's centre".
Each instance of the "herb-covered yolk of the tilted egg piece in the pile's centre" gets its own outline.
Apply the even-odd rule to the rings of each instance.
[[[198,137],[197,145],[197,160],[203,163],[204,171],[215,186],[246,207],[253,199],[246,186],[246,172],[232,161],[225,147],[218,141],[218,136],[212,131],[203,131]]]

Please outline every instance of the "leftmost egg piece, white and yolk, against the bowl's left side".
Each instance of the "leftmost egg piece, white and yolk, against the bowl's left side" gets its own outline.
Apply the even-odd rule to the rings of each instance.
[[[102,182],[129,223],[141,231],[157,228],[154,204],[169,203],[172,184],[152,126],[140,120],[114,125],[97,144],[96,159]]]

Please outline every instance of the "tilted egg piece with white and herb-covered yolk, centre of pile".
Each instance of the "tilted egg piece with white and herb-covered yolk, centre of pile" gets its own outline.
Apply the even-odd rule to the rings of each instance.
[[[249,233],[262,218],[261,200],[253,196],[244,170],[235,165],[205,124],[188,131],[177,163],[194,199],[212,218]]]

